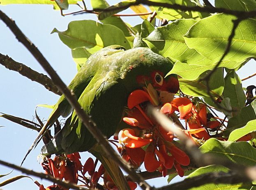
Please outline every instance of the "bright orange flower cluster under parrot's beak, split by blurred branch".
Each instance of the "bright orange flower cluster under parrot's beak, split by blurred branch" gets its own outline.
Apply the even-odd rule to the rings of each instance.
[[[125,149],[122,157],[135,167],[144,162],[148,172],[159,171],[166,176],[167,169],[174,166],[179,176],[184,176],[181,165],[189,165],[189,156],[175,146],[171,131],[166,131],[148,118],[143,110],[143,103],[146,101],[155,105],[151,96],[143,90],[135,90],[128,98],[129,117],[124,117],[123,121],[131,127],[120,130],[118,134],[119,142]],[[200,104],[196,108],[188,98],[174,98],[161,108],[161,112],[166,115],[175,111],[180,112],[180,119],[187,120],[190,130],[184,132],[191,139],[194,135],[207,140],[210,136],[204,127],[214,128],[220,124],[219,121],[207,122],[205,105]]]

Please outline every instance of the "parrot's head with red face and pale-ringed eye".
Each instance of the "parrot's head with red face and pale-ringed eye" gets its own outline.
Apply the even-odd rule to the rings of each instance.
[[[162,103],[171,101],[179,90],[176,75],[166,74],[172,69],[173,63],[158,55],[149,48],[126,50],[122,55],[121,78],[129,92],[152,85]],[[129,62],[126,62],[129,60]]]

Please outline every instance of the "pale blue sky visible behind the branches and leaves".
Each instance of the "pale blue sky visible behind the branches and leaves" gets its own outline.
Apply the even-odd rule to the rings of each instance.
[[[74,10],[71,6],[70,11]],[[76,65],[71,57],[71,52],[58,38],[57,34],[50,34],[54,27],[63,31],[73,20],[93,19],[97,17],[91,14],[79,16],[60,16],[59,11],[54,11],[49,5],[8,5],[0,6],[0,9],[9,17],[15,20],[24,34],[42,51],[46,59],[51,63],[55,71],[60,75],[66,84],[76,74]],[[131,25],[136,25],[142,20],[138,17],[125,18]],[[0,21],[0,53],[9,55],[17,62],[21,62],[32,69],[46,74],[38,62],[30,55],[28,50],[19,43],[12,32]],[[244,66],[238,74],[241,78],[249,76],[255,72],[255,62],[250,62]],[[255,78],[243,82],[243,86],[255,85]],[[59,96],[48,92],[42,85],[32,82],[14,71],[9,71],[0,65],[0,112],[12,114],[25,119],[33,119],[35,108],[39,104],[55,104]],[[42,119],[46,119],[51,110],[38,108],[37,113]],[[35,139],[37,132],[14,124],[6,119],[0,118],[0,159],[20,165],[26,151]],[[42,147],[42,143],[30,153],[25,160],[23,167],[43,172],[42,167],[37,162],[37,156]],[[85,153],[81,153],[84,158]],[[12,169],[0,165],[0,174],[6,174]],[[19,172],[1,178],[6,180],[12,176],[20,175]],[[41,179],[33,177],[34,180]],[[43,181],[44,184],[50,184]],[[166,179],[155,179],[152,181],[156,186],[166,185]],[[37,190],[37,186],[30,179],[21,179],[2,187],[3,190]]]

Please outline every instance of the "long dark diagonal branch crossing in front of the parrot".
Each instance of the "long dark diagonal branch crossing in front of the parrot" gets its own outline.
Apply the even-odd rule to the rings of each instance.
[[[20,41],[29,51],[30,53],[36,58],[36,60],[41,64],[41,66],[44,68],[44,70],[51,76],[51,79],[53,80],[54,84],[58,87],[58,89],[65,95],[67,98],[67,101],[69,101],[70,105],[74,108],[76,111],[76,114],[78,117],[83,121],[83,124],[86,128],[90,131],[90,133],[95,137],[97,142],[101,144],[103,147],[106,155],[113,159],[122,169],[125,170],[131,177],[131,179],[135,182],[137,182],[143,189],[152,189],[148,183],[144,181],[144,179],[137,174],[133,169],[131,169],[131,166],[128,165],[118,154],[115,152],[115,150],[111,147],[111,145],[108,143],[108,140],[103,136],[101,133],[101,130],[99,130],[83,108],[81,108],[81,105],[77,102],[77,98],[74,94],[71,94],[70,90],[67,88],[65,83],[60,79],[58,74],[54,71],[54,69],[51,67],[49,62],[46,60],[44,55],[37,49],[37,47],[23,34],[23,32],[18,28],[18,26],[15,24],[12,19],[10,19],[6,14],[4,14],[2,11],[0,11],[0,18],[2,21],[9,27],[9,29],[14,33],[18,41]],[[129,187],[127,187],[128,189]]]

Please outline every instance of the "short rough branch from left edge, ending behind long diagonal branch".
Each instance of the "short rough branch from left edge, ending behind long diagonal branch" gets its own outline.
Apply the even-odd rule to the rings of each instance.
[[[30,67],[22,63],[14,61],[11,57],[8,57],[7,55],[2,55],[0,53],[0,64],[5,66],[9,70],[20,73],[22,76],[25,76],[32,81],[38,82],[39,84],[43,85],[47,90],[60,96],[62,95],[59,89],[53,84],[51,78],[48,78],[48,76],[42,73],[34,71]]]

